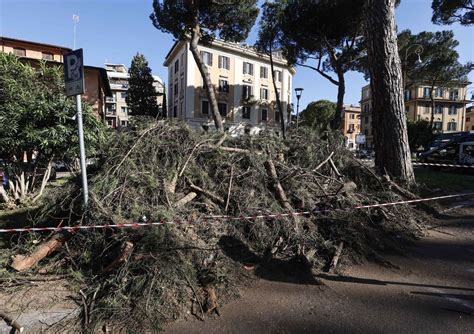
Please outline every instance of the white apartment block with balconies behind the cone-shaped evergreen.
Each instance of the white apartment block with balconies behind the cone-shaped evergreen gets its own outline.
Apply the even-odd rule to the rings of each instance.
[[[130,119],[130,108],[125,100],[129,87],[128,79],[130,78],[128,69],[123,64],[110,63],[105,64],[105,69],[112,91],[112,95],[106,99],[105,118],[107,125],[111,128],[127,127]],[[153,86],[157,92],[158,107],[161,109],[163,106],[164,84],[157,75],[154,75],[153,78],[155,79]]]

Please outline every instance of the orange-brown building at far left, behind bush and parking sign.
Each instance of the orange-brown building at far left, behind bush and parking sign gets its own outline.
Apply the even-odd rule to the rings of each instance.
[[[2,52],[13,53],[32,66],[41,60],[51,66],[63,66],[63,55],[72,49],[39,42],[0,36]],[[87,59],[86,59],[87,60]],[[107,72],[104,68],[84,66],[85,92],[83,98],[92,106],[98,118],[105,120],[105,97],[111,96]]]

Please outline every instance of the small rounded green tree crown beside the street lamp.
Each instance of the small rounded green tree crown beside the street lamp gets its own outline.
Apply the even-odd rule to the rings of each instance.
[[[301,112],[301,124],[313,129],[326,130],[336,112],[336,104],[328,100],[319,100],[308,104]]]

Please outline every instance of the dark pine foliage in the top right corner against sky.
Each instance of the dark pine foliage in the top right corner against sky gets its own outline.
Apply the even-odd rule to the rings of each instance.
[[[474,1],[472,0],[433,0],[431,4],[435,24],[452,24],[459,22],[462,25],[474,23]]]

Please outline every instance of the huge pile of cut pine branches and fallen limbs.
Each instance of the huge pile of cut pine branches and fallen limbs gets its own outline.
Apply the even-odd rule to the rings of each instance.
[[[137,124],[117,132],[104,149],[86,214],[72,183],[49,194],[43,221],[174,223],[79,230],[67,249],[52,236],[37,247],[43,258],[38,250],[17,254],[13,266],[25,259],[35,260],[28,268],[60,262],[63,271],[79,273],[85,328],[113,324],[140,331],[189,310],[200,319],[218,312],[218,304],[238,294],[249,270],[270,279],[277,278],[264,268],[272,263],[281,270],[297,264],[306,273],[337,270],[341,258],[377,256],[394,240],[414,237],[417,213],[407,206],[340,210],[412,195],[355,161],[342,142],[339,132],[305,128],[283,140],[270,133],[198,133],[175,122]],[[313,214],[216,218],[302,211]],[[53,254],[44,248],[50,244]]]

